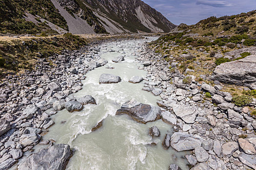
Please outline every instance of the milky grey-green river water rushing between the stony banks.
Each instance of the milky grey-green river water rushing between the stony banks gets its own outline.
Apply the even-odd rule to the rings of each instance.
[[[111,48],[116,52],[101,50],[99,55],[109,63],[89,71],[86,74],[87,78],[82,82],[83,89],[73,94],[76,98],[92,95],[97,105],[85,105],[82,111],[73,113],[64,109],[51,117],[55,125],[49,128],[49,133],[43,136],[43,139],[54,139],[56,143],[69,144],[76,150],[67,165],[67,170],[168,170],[169,165],[173,163],[182,170],[188,169],[187,161],[181,158],[185,153],[177,153],[172,148],[164,150],[161,145],[165,134],[173,133],[171,125],[162,120],[142,124],[127,115],[115,115],[121,104],[132,98],[152,105],[156,105],[160,100],[152,93],[141,90],[143,82],[128,83],[132,76],[145,77],[147,73],[138,69],[141,65],[135,62],[134,53],[138,53],[142,42],[133,40],[102,46],[102,49]],[[121,54],[122,51],[118,51],[120,49],[126,54]],[[126,55],[125,61],[111,61],[120,55]],[[122,81],[118,84],[99,85],[98,79],[102,73],[118,75]],[[91,132],[101,120],[103,125]],[[152,139],[148,135],[152,126],[159,128],[160,137]],[[157,145],[149,145],[152,142],[156,142]],[[35,148],[38,150],[40,147],[38,145]]]

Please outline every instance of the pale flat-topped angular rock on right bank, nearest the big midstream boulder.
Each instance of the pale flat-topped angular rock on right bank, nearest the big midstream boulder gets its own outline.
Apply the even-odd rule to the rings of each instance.
[[[197,107],[185,104],[174,104],[173,111],[177,117],[180,117],[186,123],[194,123],[199,114]]]

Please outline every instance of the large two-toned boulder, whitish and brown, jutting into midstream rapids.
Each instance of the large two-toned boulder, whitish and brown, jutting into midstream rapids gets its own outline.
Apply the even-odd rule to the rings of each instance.
[[[128,114],[140,123],[147,123],[161,118],[161,110],[158,106],[142,104],[134,99],[125,102],[116,114]]]

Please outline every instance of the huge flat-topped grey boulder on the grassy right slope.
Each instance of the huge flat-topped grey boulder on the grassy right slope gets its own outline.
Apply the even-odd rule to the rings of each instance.
[[[255,84],[256,55],[250,55],[237,61],[222,63],[215,68],[211,79],[235,85]]]

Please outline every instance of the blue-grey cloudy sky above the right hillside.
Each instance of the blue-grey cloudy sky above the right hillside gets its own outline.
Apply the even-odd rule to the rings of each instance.
[[[143,0],[172,23],[196,24],[207,17],[256,10],[256,0]]]

